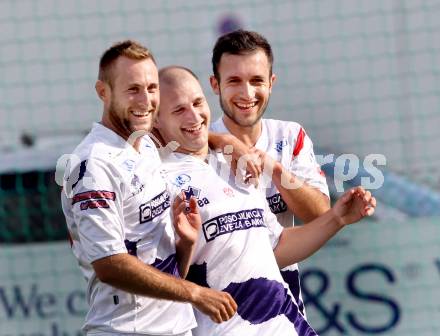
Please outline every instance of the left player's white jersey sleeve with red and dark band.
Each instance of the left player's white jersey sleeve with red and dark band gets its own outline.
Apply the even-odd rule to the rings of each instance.
[[[82,161],[70,174],[69,202],[86,258],[127,253],[124,243],[122,179],[98,159]]]

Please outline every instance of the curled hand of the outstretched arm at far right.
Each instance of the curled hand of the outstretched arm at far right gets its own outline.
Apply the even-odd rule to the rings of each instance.
[[[376,199],[362,187],[348,190],[332,208],[339,223],[344,226],[371,216],[376,208]]]

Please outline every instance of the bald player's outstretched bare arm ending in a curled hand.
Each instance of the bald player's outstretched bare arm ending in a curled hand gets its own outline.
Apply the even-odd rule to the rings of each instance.
[[[308,225],[286,228],[274,249],[280,268],[300,262],[321,248],[346,225],[371,216],[376,199],[362,187],[348,190],[325,214]]]

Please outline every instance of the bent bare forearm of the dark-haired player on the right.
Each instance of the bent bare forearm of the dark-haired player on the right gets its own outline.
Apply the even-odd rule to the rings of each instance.
[[[312,221],[330,209],[330,199],[319,189],[308,185],[289,172],[265,152],[255,149],[255,153],[263,162],[265,167],[263,172],[271,174],[272,181],[287,207],[304,223]]]

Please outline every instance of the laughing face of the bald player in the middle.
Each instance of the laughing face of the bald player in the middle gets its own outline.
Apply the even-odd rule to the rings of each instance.
[[[194,77],[184,70],[175,71],[179,79],[174,84],[161,82],[156,127],[166,143],[179,143],[178,152],[204,155],[208,150],[211,117],[208,103]]]

